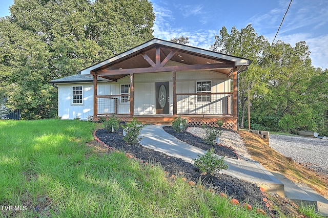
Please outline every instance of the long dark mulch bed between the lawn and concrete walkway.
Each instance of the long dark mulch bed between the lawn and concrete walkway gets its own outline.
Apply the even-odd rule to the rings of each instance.
[[[261,205],[264,210],[269,212],[265,203],[262,202],[263,193],[255,184],[220,173],[216,173],[214,176],[201,176],[200,172],[192,164],[187,163],[182,159],[162,154],[161,152],[146,148],[140,144],[127,145],[125,141],[122,140],[123,133],[121,128],[117,133],[108,133],[106,129],[98,129],[95,135],[101,142],[106,143],[109,147],[124,150],[133,157],[144,162],[158,162],[164,170],[171,174],[177,175],[177,173],[182,172],[184,177],[195,183],[201,179],[203,184],[206,184],[207,187],[211,186],[212,189],[215,189],[218,192],[225,192],[230,197],[236,198],[239,202],[247,201],[253,207]],[[198,141],[198,139],[196,139],[198,137],[192,134],[188,135],[188,137],[184,137],[189,138],[191,141]],[[229,151],[229,155],[226,154],[222,156],[230,156],[230,153],[231,152]]]

